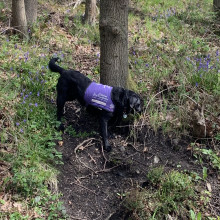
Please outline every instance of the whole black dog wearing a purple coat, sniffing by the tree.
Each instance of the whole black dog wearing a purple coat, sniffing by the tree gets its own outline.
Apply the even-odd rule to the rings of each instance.
[[[65,70],[55,63],[58,59],[52,58],[49,62],[50,70],[60,73],[57,83],[57,120],[61,121],[65,102],[77,99],[81,105],[98,112],[104,149],[110,151],[108,121],[120,121],[129,113],[141,112],[140,97],[127,89],[96,84],[78,71]],[[63,124],[59,130],[64,130]]]

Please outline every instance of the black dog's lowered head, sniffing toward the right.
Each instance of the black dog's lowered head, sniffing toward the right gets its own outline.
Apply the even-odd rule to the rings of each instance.
[[[141,113],[143,109],[143,101],[141,100],[140,96],[133,91],[129,90],[128,93],[128,104],[130,108],[130,112],[138,112]]]

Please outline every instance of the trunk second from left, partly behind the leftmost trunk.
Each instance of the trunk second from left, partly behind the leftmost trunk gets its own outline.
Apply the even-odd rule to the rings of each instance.
[[[37,20],[37,0],[24,0],[26,18],[28,24],[33,24]]]

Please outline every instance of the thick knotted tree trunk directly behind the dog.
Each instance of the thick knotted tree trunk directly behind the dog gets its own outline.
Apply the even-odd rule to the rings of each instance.
[[[127,87],[129,0],[100,1],[100,81]]]

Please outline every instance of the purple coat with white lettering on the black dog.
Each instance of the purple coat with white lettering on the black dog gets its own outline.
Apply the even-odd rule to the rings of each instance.
[[[92,82],[86,89],[84,100],[87,105],[92,105],[97,108],[104,109],[108,112],[113,112],[115,105],[111,99],[111,86],[102,85]]]

